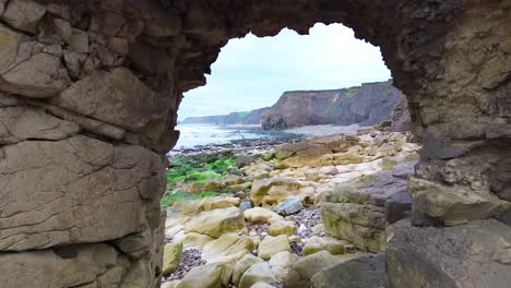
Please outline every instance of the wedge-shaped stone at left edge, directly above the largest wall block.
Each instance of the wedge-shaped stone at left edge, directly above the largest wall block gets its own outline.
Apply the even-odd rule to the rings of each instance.
[[[80,132],[73,122],[29,106],[0,108],[0,144],[14,144],[27,139],[62,140]]]

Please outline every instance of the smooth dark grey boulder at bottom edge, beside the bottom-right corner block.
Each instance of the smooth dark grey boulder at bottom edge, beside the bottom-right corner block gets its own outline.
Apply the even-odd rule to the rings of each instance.
[[[366,255],[334,264],[314,274],[312,288],[383,288],[385,255]]]

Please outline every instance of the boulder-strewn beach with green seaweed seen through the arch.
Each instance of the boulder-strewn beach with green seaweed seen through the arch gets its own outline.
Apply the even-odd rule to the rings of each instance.
[[[169,157],[162,287],[377,287],[338,276],[353,269],[384,285],[385,224],[411,213],[411,139],[383,124]]]

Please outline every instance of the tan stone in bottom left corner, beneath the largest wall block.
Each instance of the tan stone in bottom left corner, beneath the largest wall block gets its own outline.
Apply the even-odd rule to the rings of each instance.
[[[129,269],[128,259],[104,243],[1,253],[0,260],[0,283],[5,288],[116,287]]]

